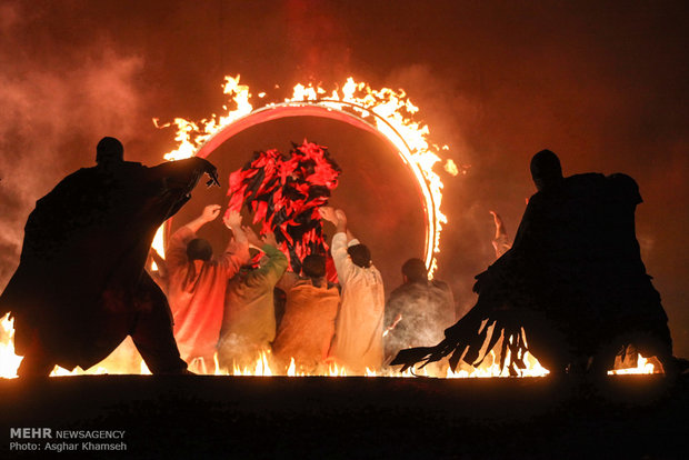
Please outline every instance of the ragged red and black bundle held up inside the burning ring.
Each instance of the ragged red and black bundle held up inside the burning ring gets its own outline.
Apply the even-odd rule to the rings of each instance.
[[[232,172],[228,209],[240,211],[246,204],[253,223],[262,222],[260,233],[274,232],[299,273],[306,256],[328,252],[318,208],[328,203],[341,169],[322,146],[304,141],[293,147],[288,158],[277,149],[256,152]]]

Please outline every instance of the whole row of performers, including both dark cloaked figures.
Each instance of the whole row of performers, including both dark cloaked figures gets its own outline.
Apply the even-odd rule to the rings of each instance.
[[[208,206],[172,234],[164,260],[154,254],[153,280],[144,264],[156,230],[203,173],[217,183],[216,168],[200,158],[147,168],[124,161],[122,144],[103,138],[96,167],[37,202],[20,266],[0,297],[0,313],[16,320],[19,374],[89,368],[127,336],[153,373],[186,373],[189,364],[203,373],[243,369],[266,352],[278,372],[293,361],[303,373],[334,364],[363,374],[446,357],[455,369],[478,366],[496,344],[512,371],[528,350],[555,373],[602,372],[629,347],[676,371],[667,316],[636,240],[636,182],[565,178],[550,151],[533,158],[531,171],[538,192],[513,246],[501,241],[501,257],[477,277],[476,307],[451,326],[452,293],[429,280],[419,259],[405,263],[403,283],[386,302],[369,249],[346,213],[327,206],[318,216],[334,226],[330,254],[297,263],[270,231],[259,237],[236,211],[223,214],[232,236],[213,257],[197,236],[220,216],[220,206]],[[328,276],[328,258],[337,278]]]

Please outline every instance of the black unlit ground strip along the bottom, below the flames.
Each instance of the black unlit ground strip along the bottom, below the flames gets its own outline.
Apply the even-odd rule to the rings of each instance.
[[[18,453],[10,427],[49,427],[126,430],[127,458],[683,459],[688,390],[688,376],[0,380],[0,458]]]

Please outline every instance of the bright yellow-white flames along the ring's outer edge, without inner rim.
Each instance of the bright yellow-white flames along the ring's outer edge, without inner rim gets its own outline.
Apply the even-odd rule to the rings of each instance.
[[[377,130],[398,149],[419,183],[427,213],[426,264],[432,276],[437,268],[436,254],[440,251],[440,232],[448,221],[440,209],[443,183],[435,168],[441,162],[441,151],[447,151],[449,148],[429,141],[429,128],[415,120],[419,114],[419,108],[409,100],[406,92],[389,88],[376,90],[368,83],[356,82],[349,77],[341,88],[332,91],[327,91],[320,86],[313,87],[311,83],[307,86],[298,83],[292,89],[291,98],[284,99],[283,102],[261,100],[261,106],[254,109],[249,87],[240,84],[239,78],[239,76],[224,78],[222,90],[231,103],[223,106],[226,112],[222,116],[213,113],[210,118],[198,122],[176,118],[172,123],[166,124],[153,120],[159,128],[172,124],[177,127],[174,140],[178,146],[163,158],[179,160],[197,154],[204,144],[230,124],[252,113],[278,107],[312,106],[356,117]],[[264,97],[264,92],[259,93],[260,99]],[[456,176],[458,169],[452,166],[455,163],[451,160],[446,162],[446,170],[449,174]]]

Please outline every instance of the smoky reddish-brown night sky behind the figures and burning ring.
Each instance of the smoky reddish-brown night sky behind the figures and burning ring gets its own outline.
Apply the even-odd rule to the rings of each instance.
[[[446,183],[438,278],[460,310],[493,259],[492,218],[510,237],[535,192],[533,153],[566,176],[625,172],[640,187],[637,234],[663,298],[676,354],[689,356],[689,14],[681,1],[13,1],[0,0],[0,289],[13,272],[34,201],[93,164],[114,136],[126,158],[161,162],[176,117],[226,102],[224,76],[280,100],[297,82],[332,89],[351,76],[403,88],[431,139],[467,174]],[[333,204],[372,250],[387,290],[422,247],[422,208],[395,151],[316,118],[251,128],[209,157],[227,180],[254,150],[304,138],[343,169]],[[203,190],[179,217],[223,201]],[[227,234],[220,223],[213,244]],[[214,224],[213,223],[213,224]],[[209,224],[212,226],[212,224]],[[328,229],[332,231],[331,228]],[[212,228],[209,234],[212,234]]]

